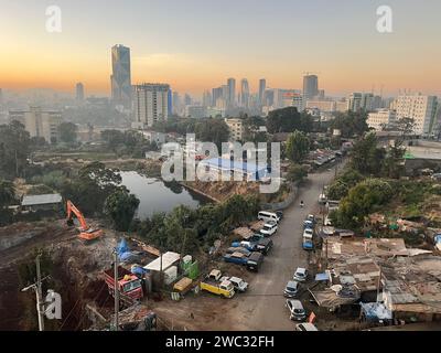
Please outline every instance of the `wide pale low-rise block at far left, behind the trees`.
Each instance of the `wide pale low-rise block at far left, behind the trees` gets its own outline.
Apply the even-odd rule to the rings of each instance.
[[[43,110],[41,107],[11,110],[9,119],[23,124],[31,137],[42,137],[49,143],[57,143],[60,140],[58,127],[63,121],[60,110]]]

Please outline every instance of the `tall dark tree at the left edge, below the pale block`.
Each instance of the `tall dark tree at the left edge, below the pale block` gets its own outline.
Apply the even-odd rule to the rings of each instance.
[[[0,125],[0,176],[20,176],[28,165],[31,138],[24,125]]]

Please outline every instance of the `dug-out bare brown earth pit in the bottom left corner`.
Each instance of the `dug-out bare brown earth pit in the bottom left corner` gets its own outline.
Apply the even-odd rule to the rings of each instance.
[[[30,233],[30,229],[34,229]],[[75,231],[64,224],[37,228],[35,224],[0,231],[0,331],[37,330],[35,293],[22,292],[21,264],[34,266],[35,249],[44,249],[51,259],[51,279],[43,286],[62,297],[62,320],[45,320],[46,330],[85,330],[90,321],[89,304],[100,312],[111,312],[114,302],[101,272],[111,264],[116,235],[85,245]],[[22,236],[25,235],[25,236]]]

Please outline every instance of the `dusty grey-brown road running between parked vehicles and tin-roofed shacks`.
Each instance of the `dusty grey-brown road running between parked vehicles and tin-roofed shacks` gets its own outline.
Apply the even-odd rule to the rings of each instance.
[[[284,307],[283,289],[297,267],[308,266],[308,253],[302,249],[302,224],[308,214],[318,214],[318,197],[334,173],[332,170],[311,174],[308,184],[300,189],[294,204],[286,210],[279,232],[273,236],[275,247],[266,257],[260,272],[251,280],[248,295],[241,295],[240,302],[234,309],[237,320],[233,329],[293,330]],[[304,208],[300,208],[300,200],[304,201]]]

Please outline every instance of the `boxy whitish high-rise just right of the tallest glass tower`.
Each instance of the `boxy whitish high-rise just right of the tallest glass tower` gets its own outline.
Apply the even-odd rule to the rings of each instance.
[[[142,84],[135,86],[135,117],[138,127],[152,127],[166,120],[170,107],[170,86],[166,84]]]

